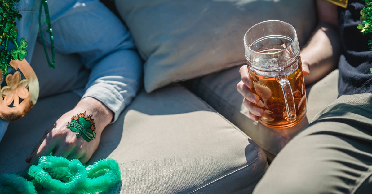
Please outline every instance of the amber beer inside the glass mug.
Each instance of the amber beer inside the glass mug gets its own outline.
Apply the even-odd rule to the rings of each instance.
[[[304,118],[306,113],[306,90],[302,74],[301,57],[299,55],[295,61],[288,64],[288,67],[291,67],[291,71],[285,75],[292,88],[296,110],[297,119],[292,123],[287,122],[285,119],[287,113],[285,99],[277,77],[259,75],[251,68],[252,64],[249,64],[248,61],[247,65],[249,76],[254,86],[252,91],[260,97],[258,105],[264,109],[264,115],[260,119],[263,125],[274,128],[289,127]]]

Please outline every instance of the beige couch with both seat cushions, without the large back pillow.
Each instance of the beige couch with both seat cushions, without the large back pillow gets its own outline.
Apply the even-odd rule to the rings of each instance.
[[[56,61],[59,65],[48,69],[42,46],[35,46],[31,65],[40,98],[29,114],[10,123],[1,140],[0,174],[24,170],[25,158],[45,130],[80,100],[81,80],[89,72],[77,56],[57,53]],[[108,157],[118,161],[122,180],[106,193],[251,193],[283,146],[337,98],[334,70],[307,86],[307,117],[300,124],[267,128],[249,119],[236,90],[243,64],[151,93],[146,87],[139,91],[104,130],[87,163]],[[61,77],[55,71],[71,74]]]

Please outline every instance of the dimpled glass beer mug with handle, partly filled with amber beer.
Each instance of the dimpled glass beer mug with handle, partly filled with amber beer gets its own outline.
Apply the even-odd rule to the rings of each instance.
[[[269,20],[244,35],[244,49],[253,93],[264,109],[259,122],[273,128],[293,126],[305,117],[306,91],[296,30]]]

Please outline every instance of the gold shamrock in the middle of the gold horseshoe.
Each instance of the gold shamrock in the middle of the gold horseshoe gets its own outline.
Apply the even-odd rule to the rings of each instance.
[[[13,103],[13,107],[19,105],[19,98],[26,99],[28,97],[28,80],[21,80],[21,74],[16,71],[13,75],[8,74],[5,78],[7,86],[1,89],[1,94],[4,97],[4,103],[9,106]]]

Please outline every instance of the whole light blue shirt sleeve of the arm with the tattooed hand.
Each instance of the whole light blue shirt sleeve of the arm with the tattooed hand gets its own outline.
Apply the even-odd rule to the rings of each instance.
[[[56,50],[63,54],[78,53],[91,71],[82,98],[101,101],[113,111],[115,121],[137,93],[142,80],[142,61],[129,30],[99,0],[48,1],[48,4]],[[46,29],[44,25],[43,32]],[[47,33],[44,37],[50,44]]]

